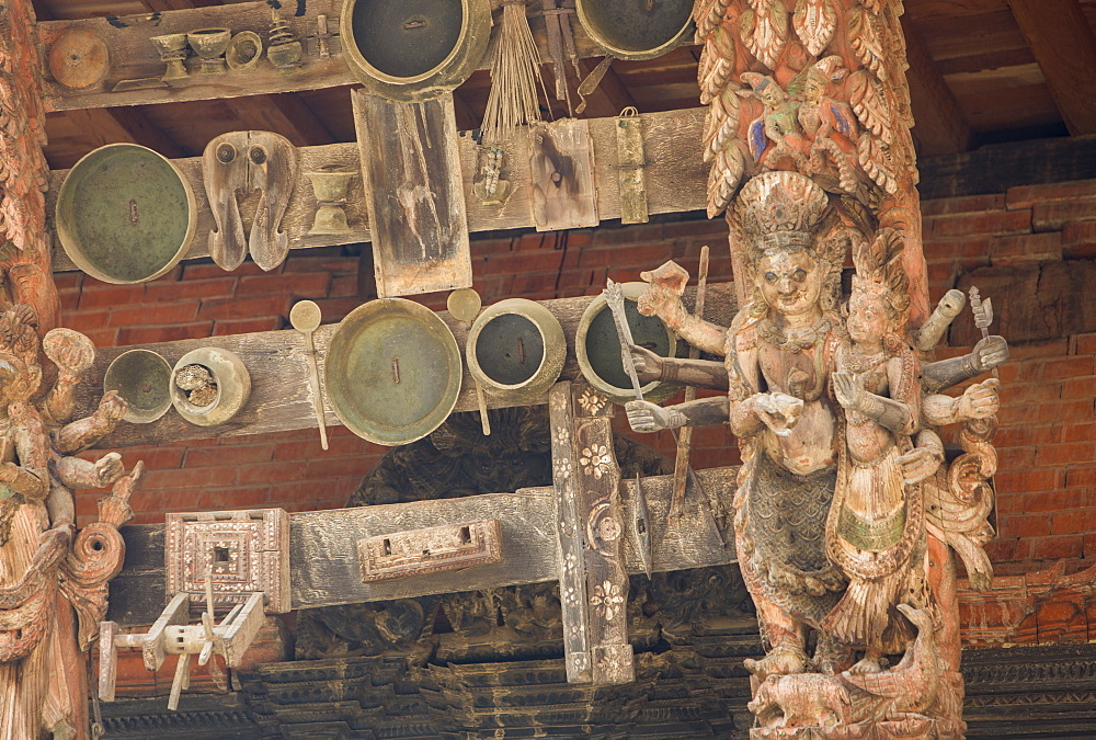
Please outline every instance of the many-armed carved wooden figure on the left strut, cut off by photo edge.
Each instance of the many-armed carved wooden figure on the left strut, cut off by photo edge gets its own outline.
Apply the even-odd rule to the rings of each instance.
[[[54,329],[39,342],[25,305],[0,315],[0,738],[88,737],[87,650],[106,611],[106,581],[122,567],[117,533],[142,466],[72,455],[112,431],[126,403],[107,394],[70,421],[75,389],[94,358],[82,334]],[[44,350],[57,382],[39,397]],[[100,521],[76,534],[70,488],[113,486]],[[73,610],[79,624],[75,624]]]

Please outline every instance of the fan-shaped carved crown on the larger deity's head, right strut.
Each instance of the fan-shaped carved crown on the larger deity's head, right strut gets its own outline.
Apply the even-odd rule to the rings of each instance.
[[[734,223],[760,258],[779,251],[811,249],[829,198],[798,172],[763,172],[742,187]]]

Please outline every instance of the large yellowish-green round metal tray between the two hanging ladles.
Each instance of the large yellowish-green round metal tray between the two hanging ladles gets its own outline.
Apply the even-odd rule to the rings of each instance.
[[[453,332],[406,298],[358,306],[331,337],[323,376],[335,414],[384,445],[420,440],[457,405],[463,366]]]

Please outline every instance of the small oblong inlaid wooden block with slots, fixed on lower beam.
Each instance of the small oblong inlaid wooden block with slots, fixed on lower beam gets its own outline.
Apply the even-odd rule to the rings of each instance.
[[[502,560],[496,519],[375,535],[357,543],[362,581],[464,570]]]

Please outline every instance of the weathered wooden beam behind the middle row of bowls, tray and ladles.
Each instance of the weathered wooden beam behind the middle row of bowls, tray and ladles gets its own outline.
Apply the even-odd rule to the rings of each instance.
[[[721,326],[730,326],[735,307],[732,284],[709,286],[709,291],[711,293],[705,306],[705,317]],[[693,294],[693,292],[686,294],[686,305],[692,305]],[[561,379],[573,379],[581,376],[574,355],[574,333],[582,311],[592,299],[592,297],[583,296],[544,301],[544,305],[559,319],[568,341],[567,362],[563,365]],[[439,316],[453,331],[463,352],[468,329],[446,311],[441,312]],[[321,377],[323,376],[328,345],[336,326],[320,327],[312,334]],[[219,426],[196,426],[184,421],[173,410],[169,410],[151,424],[123,422],[117,430],[96,445],[100,448],[147,446],[183,440],[285,432],[295,429],[311,429],[316,425],[316,411],[312,406],[308,379],[309,355],[305,338],[293,329],[232,337],[210,337],[209,339],[187,339],[141,346],[159,352],[172,365],[183,354],[197,348],[216,346],[230,350],[239,355],[251,374],[251,397],[230,422]],[[104,348],[96,352],[95,364],[88,373],[88,380],[80,388],[78,413],[85,414],[93,410],[93,405],[98,403],[99,396],[92,389],[102,388],[103,375],[111,361],[129,349],[133,348]],[[328,394],[323,395],[324,401],[330,403]],[[513,406],[513,403],[491,398],[488,400],[488,406],[501,408]],[[476,388],[466,364],[456,410],[471,411],[479,407],[476,399]],[[330,406],[326,409],[324,420],[328,426],[341,423]]]

